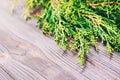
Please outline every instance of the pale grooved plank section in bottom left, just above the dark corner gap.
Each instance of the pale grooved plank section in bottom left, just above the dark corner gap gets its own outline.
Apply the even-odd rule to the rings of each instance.
[[[9,60],[7,63],[2,63],[2,68],[4,68],[8,74],[12,75],[14,80],[46,80],[37,72],[15,60]]]

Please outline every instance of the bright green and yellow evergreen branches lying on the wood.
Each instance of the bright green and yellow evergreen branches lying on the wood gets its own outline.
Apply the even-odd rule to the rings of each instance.
[[[27,0],[27,10],[42,5],[38,24],[45,35],[54,36],[64,50],[78,52],[84,64],[90,46],[98,41],[108,53],[120,52],[120,1],[118,0]]]

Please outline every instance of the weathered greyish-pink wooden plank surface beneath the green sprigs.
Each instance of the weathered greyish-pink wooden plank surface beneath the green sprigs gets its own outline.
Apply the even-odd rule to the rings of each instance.
[[[31,27],[33,21],[11,16],[10,3],[0,0],[0,80],[120,80],[119,53],[110,59],[99,43],[99,51],[91,48],[86,66],[80,66],[77,55],[64,53]]]

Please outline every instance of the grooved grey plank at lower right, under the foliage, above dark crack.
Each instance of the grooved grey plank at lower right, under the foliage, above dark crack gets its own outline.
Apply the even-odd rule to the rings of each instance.
[[[118,80],[120,79],[120,74],[119,74],[120,69],[114,65],[115,63],[114,61],[112,60],[110,61],[108,57],[104,57],[101,53],[97,54],[97,52],[94,51],[94,49],[91,49],[90,53],[87,56],[88,56],[88,61],[90,61],[93,65],[100,68],[102,71],[107,72],[109,75],[113,76],[115,79],[118,79]],[[117,65],[120,65],[120,64],[117,64]]]

